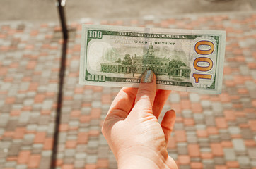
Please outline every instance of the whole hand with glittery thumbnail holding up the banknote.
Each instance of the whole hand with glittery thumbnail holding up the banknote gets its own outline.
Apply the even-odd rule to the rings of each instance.
[[[102,132],[117,159],[118,168],[177,168],[167,143],[175,111],[158,117],[170,91],[156,91],[156,75],[146,70],[139,89],[122,88],[110,106]]]

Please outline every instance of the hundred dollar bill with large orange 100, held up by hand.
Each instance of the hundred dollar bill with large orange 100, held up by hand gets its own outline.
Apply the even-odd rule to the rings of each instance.
[[[151,69],[158,89],[220,94],[226,32],[83,25],[79,83],[139,87]]]

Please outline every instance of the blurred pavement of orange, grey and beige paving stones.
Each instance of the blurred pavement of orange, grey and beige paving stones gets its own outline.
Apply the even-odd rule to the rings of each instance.
[[[117,168],[101,125],[120,88],[78,84],[81,23],[226,30],[223,92],[173,92],[168,154],[179,168],[256,169],[256,13],[81,20],[69,40],[57,168]],[[0,168],[50,166],[62,41],[58,23],[0,23]]]

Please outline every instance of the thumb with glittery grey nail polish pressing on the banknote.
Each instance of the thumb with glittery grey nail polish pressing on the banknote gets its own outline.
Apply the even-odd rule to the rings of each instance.
[[[141,77],[141,84],[139,84],[135,106],[139,106],[139,108],[150,108],[152,111],[155,96],[156,75],[152,70],[146,70]]]

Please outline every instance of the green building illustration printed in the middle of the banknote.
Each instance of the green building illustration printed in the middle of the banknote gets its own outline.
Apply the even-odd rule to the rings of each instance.
[[[190,67],[178,60],[170,60],[166,56],[157,57],[154,54],[152,43],[149,45],[146,54],[143,56],[131,57],[125,54],[123,60],[118,58],[112,63],[101,63],[101,72],[104,73],[144,73],[145,70],[151,69],[156,75],[167,75],[172,77],[190,77]]]

